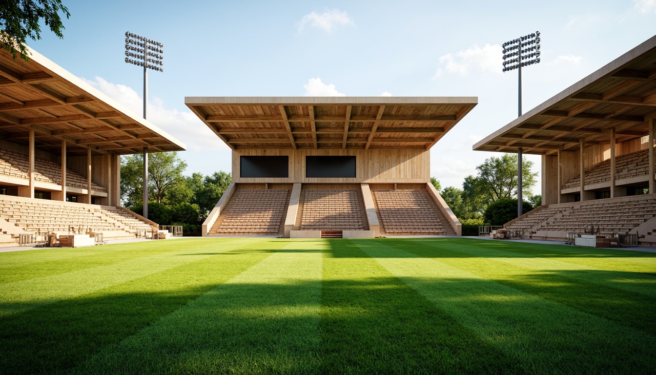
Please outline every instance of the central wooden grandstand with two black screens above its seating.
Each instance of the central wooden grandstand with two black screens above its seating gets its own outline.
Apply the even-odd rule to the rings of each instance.
[[[460,235],[430,148],[476,97],[187,97],[232,148],[203,236]]]

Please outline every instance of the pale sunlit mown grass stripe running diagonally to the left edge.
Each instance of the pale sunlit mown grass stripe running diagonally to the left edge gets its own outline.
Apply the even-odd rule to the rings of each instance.
[[[255,242],[259,241],[262,241],[262,239],[255,240]],[[218,252],[232,250],[239,244],[240,242],[224,244]],[[81,294],[91,293],[121,282],[180,267],[180,265],[215,254],[174,257],[172,255],[184,255],[189,252],[188,248],[176,246],[175,241],[162,243],[158,248],[165,251],[128,261],[83,268],[60,275],[35,277],[1,284],[0,317],[27,311],[61,299],[75,298]]]

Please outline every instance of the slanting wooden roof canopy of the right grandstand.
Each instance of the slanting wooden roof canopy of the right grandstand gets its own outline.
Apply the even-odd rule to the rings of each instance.
[[[474,144],[474,150],[548,155],[580,141],[610,143],[649,133],[656,116],[656,36]]]

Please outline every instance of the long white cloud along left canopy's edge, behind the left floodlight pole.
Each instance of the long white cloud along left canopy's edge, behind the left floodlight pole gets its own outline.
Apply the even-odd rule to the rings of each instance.
[[[84,79],[84,78],[83,78]],[[108,82],[102,77],[84,79],[89,85],[108,97],[132,110],[138,116],[143,114],[144,99],[132,87]],[[188,150],[227,150],[215,133],[213,133],[192,112],[179,112],[175,108],[167,108],[161,99],[155,98],[148,102],[148,121],[163,129],[173,137],[187,145]]]

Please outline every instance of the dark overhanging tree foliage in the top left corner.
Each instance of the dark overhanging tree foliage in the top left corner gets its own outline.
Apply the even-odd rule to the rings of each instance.
[[[4,0],[0,2],[0,47],[9,51],[16,60],[16,55],[29,61],[26,39],[41,39],[41,20],[54,35],[64,38],[62,30],[62,12],[68,19],[71,14],[62,5],[61,0]]]

